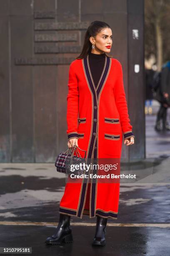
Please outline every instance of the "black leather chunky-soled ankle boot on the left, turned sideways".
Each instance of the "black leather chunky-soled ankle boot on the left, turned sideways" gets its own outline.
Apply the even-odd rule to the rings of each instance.
[[[71,243],[72,241],[73,241],[73,238],[72,238],[72,230],[70,227],[70,216],[60,213],[60,219],[59,219],[56,233],[48,237],[45,243],[50,245],[57,245],[57,244],[60,244],[61,242]]]

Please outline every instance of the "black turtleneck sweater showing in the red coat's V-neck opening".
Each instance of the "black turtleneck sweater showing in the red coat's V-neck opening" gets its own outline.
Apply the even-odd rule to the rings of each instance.
[[[100,80],[105,65],[105,53],[104,54],[89,54],[89,66],[94,81],[95,87]]]

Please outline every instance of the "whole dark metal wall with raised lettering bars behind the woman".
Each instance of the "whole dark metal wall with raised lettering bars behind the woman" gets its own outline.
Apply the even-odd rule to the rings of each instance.
[[[122,157],[145,156],[143,0],[0,0],[1,162],[54,162],[67,149],[69,64],[93,20],[110,24],[123,67],[136,146]]]

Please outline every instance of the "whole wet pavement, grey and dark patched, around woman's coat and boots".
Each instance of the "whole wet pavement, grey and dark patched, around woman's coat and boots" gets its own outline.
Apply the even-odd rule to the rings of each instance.
[[[154,131],[157,109],[155,104],[153,115],[146,115],[152,174],[141,165],[143,179],[120,184],[118,219],[107,221],[104,248],[91,246],[96,218],[87,215],[71,217],[73,243],[45,245],[55,233],[65,188],[65,175],[56,172],[54,163],[0,163],[0,247],[32,247],[33,255],[47,256],[170,255],[170,131]]]

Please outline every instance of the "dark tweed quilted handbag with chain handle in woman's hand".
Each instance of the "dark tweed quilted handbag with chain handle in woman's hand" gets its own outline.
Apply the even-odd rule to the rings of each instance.
[[[79,148],[80,150],[82,151],[85,151],[85,156],[84,158],[82,158],[80,156],[80,153],[79,151],[77,150],[77,147],[76,145],[73,146],[72,148],[72,151],[71,151],[71,154],[68,154],[69,150],[71,148],[68,148],[64,153],[60,153],[58,156],[57,156],[57,159],[55,161],[55,167],[57,168],[57,172],[62,172],[62,173],[65,173],[65,174],[71,174],[71,165],[72,164],[80,164],[80,163],[85,163],[85,156],[86,156],[86,151]],[[77,156],[73,155],[74,152],[76,153]],[[76,174],[83,174],[85,170],[83,169],[76,169],[75,170],[75,173]]]

